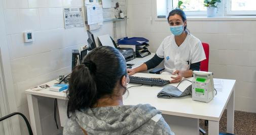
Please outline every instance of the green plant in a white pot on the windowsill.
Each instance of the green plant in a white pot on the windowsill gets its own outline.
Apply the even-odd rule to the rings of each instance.
[[[218,3],[221,3],[221,0],[204,0],[204,6],[207,7],[207,17],[216,16]]]

